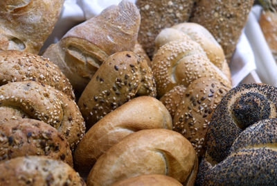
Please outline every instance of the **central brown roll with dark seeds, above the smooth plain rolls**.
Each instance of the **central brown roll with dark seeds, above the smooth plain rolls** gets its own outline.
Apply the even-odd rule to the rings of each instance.
[[[109,56],[82,92],[78,106],[87,128],[135,96],[156,96],[152,71],[132,51]]]

